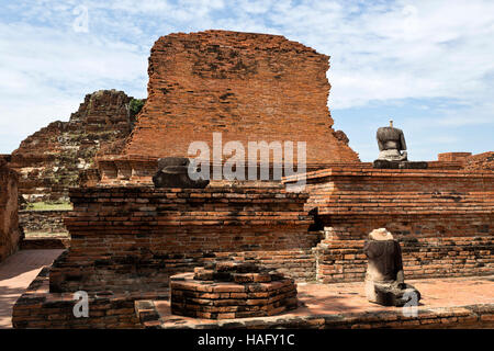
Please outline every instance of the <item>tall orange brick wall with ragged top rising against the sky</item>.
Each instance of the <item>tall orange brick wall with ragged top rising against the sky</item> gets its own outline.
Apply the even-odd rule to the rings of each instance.
[[[307,143],[307,162],[358,161],[334,134],[328,57],[283,36],[206,31],[160,37],[126,155],[187,156],[191,141]],[[296,154],[296,152],[295,152]],[[296,155],[295,155],[296,157]]]

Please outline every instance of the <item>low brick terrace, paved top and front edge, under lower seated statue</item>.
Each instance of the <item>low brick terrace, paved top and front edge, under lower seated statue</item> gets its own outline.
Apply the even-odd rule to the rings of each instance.
[[[297,309],[273,317],[226,320],[170,314],[167,301],[136,302],[145,328],[494,328],[494,276],[427,279],[417,315],[367,301],[363,283],[299,284]],[[451,292],[454,292],[451,295]]]

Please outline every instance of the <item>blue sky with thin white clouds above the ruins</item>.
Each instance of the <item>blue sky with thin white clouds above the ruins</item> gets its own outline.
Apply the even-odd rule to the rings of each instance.
[[[375,129],[390,117],[412,160],[494,150],[492,0],[0,0],[0,154],[68,121],[87,93],[145,98],[154,42],[209,29],[281,34],[329,55],[334,127],[363,161],[377,157]]]

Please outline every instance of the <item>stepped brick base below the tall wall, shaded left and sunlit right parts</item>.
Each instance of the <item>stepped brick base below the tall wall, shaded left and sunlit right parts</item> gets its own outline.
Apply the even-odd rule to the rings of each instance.
[[[379,227],[401,241],[407,279],[494,272],[490,173],[347,167],[308,174],[307,190],[308,199],[277,186],[74,189],[71,248],[49,282],[40,276],[18,302],[14,326],[138,327],[135,299],[167,298],[170,275],[218,257],[297,279],[361,281],[363,239]],[[308,231],[314,207],[326,227],[321,242]],[[85,321],[69,309],[78,290],[93,298]]]

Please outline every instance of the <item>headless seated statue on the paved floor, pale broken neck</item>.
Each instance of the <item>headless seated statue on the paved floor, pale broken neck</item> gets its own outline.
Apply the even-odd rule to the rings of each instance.
[[[366,273],[367,298],[383,306],[404,306],[418,303],[420,293],[405,284],[402,249],[385,228],[372,230],[363,252],[369,259]]]

